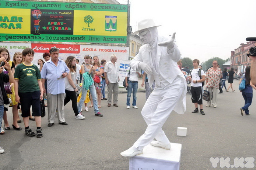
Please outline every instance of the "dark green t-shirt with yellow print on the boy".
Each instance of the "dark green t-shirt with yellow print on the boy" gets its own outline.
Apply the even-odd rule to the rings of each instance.
[[[38,80],[41,80],[41,74],[38,67],[35,64],[26,66],[25,64],[19,64],[14,73],[14,78],[19,80],[18,92],[35,92],[40,90]]]

